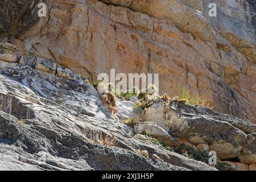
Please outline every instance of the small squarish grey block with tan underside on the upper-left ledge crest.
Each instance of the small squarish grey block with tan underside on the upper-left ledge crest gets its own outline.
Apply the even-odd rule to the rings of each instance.
[[[35,60],[35,69],[55,75],[56,64],[51,60],[46,60],[46,59],[37,57]]]

